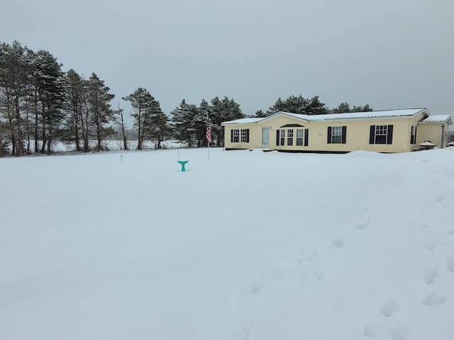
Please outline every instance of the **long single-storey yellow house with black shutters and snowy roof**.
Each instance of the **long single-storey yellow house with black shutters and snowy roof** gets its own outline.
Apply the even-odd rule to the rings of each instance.
[[[420,144],[448,144],[450,115],[426,108],[328,115],[278,112],[265,118],[224,122],[226,149],[266,148],[286,152],[410,152]]]

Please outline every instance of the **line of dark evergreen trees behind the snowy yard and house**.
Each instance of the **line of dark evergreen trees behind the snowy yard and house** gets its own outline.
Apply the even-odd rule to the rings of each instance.
[[[233,98],[218,96],[199,105],[183,98],[169,114],[147,89],[138,87],[121,97],[133,108],[133,127],[127,129],[123,108],[112,108],[115,98],[109,86],[96,73],[85,79],[46,50],[34,52],[21,42],[0,44],[0,157],[6,155],[50,154],[52,142],[72,142],[76,152],[101,151],[104,141],[121,135],[128,149],[128,136],[137,136],[137,149],[144,140],[161,148],[163,140],[187,142],[189,147],[206,146],[206,125],[210,123],[213,143],[223,146],[221,123],[245,117],[266,117],[279,111],[306,115],[372,111],[369,105],[351,106],[345,102],[328,108],[319,96],[278,98],[267,111],[245,115]],[[90,140],[96,147],[90,148]]]

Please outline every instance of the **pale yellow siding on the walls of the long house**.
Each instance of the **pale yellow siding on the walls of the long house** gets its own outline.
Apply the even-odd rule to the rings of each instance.
[[[325,121],[306,121],[293,118],[288,115],[277,115],[270,119],[265,119],[259,123],[226,125],[225,147],[227,149],[250,149],[262,147],[262,128],[270,128],[270,142],[268,147],[282,151],[301,151],[301,152],[351,152],[362,149],[373,152],[409,152],[419,146],[424,140],[432,140],[438,134],[440,124],[421,124],[418,123],[424,118],[424,113],[419,113],[411,118],[387,118],[387,119],[355,119],[355,120],[325,120]],[[286,127],[284,125],[302,125],[300,127]],[[392,144],[370,144],[371,125],[392,125]],[[416,143],[411,144],[411,127],[417,126]],[[345,144],[328,143],[328,127],[346,127]],[[231,142],[232,129],[249,129],[250,140],[248,143]],[[277,130],[285,130],[284,145],[277,145]],[[307,146],[297,145],[297,130],[309,130],[309,143]],[[288,145],[288,130],[293,130],[293,145]],[[446,127],[446,131],[448,127]],[[438,141],[439,143],[440,141]]]

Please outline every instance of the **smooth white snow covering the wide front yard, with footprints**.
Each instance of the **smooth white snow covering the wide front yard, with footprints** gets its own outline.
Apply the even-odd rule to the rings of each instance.
[[[209,153],[0,159],[1,339],[453,339],[452,150]]]

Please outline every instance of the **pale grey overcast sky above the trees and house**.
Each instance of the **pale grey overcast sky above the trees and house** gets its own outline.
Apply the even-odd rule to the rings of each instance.
[[[48,50],[117,103],[170,113],[228,96],[243,113],[319,96],[454,116],[453,0],[0,0],[0,41]],[[444,110],[441,110],[444,109]]]

